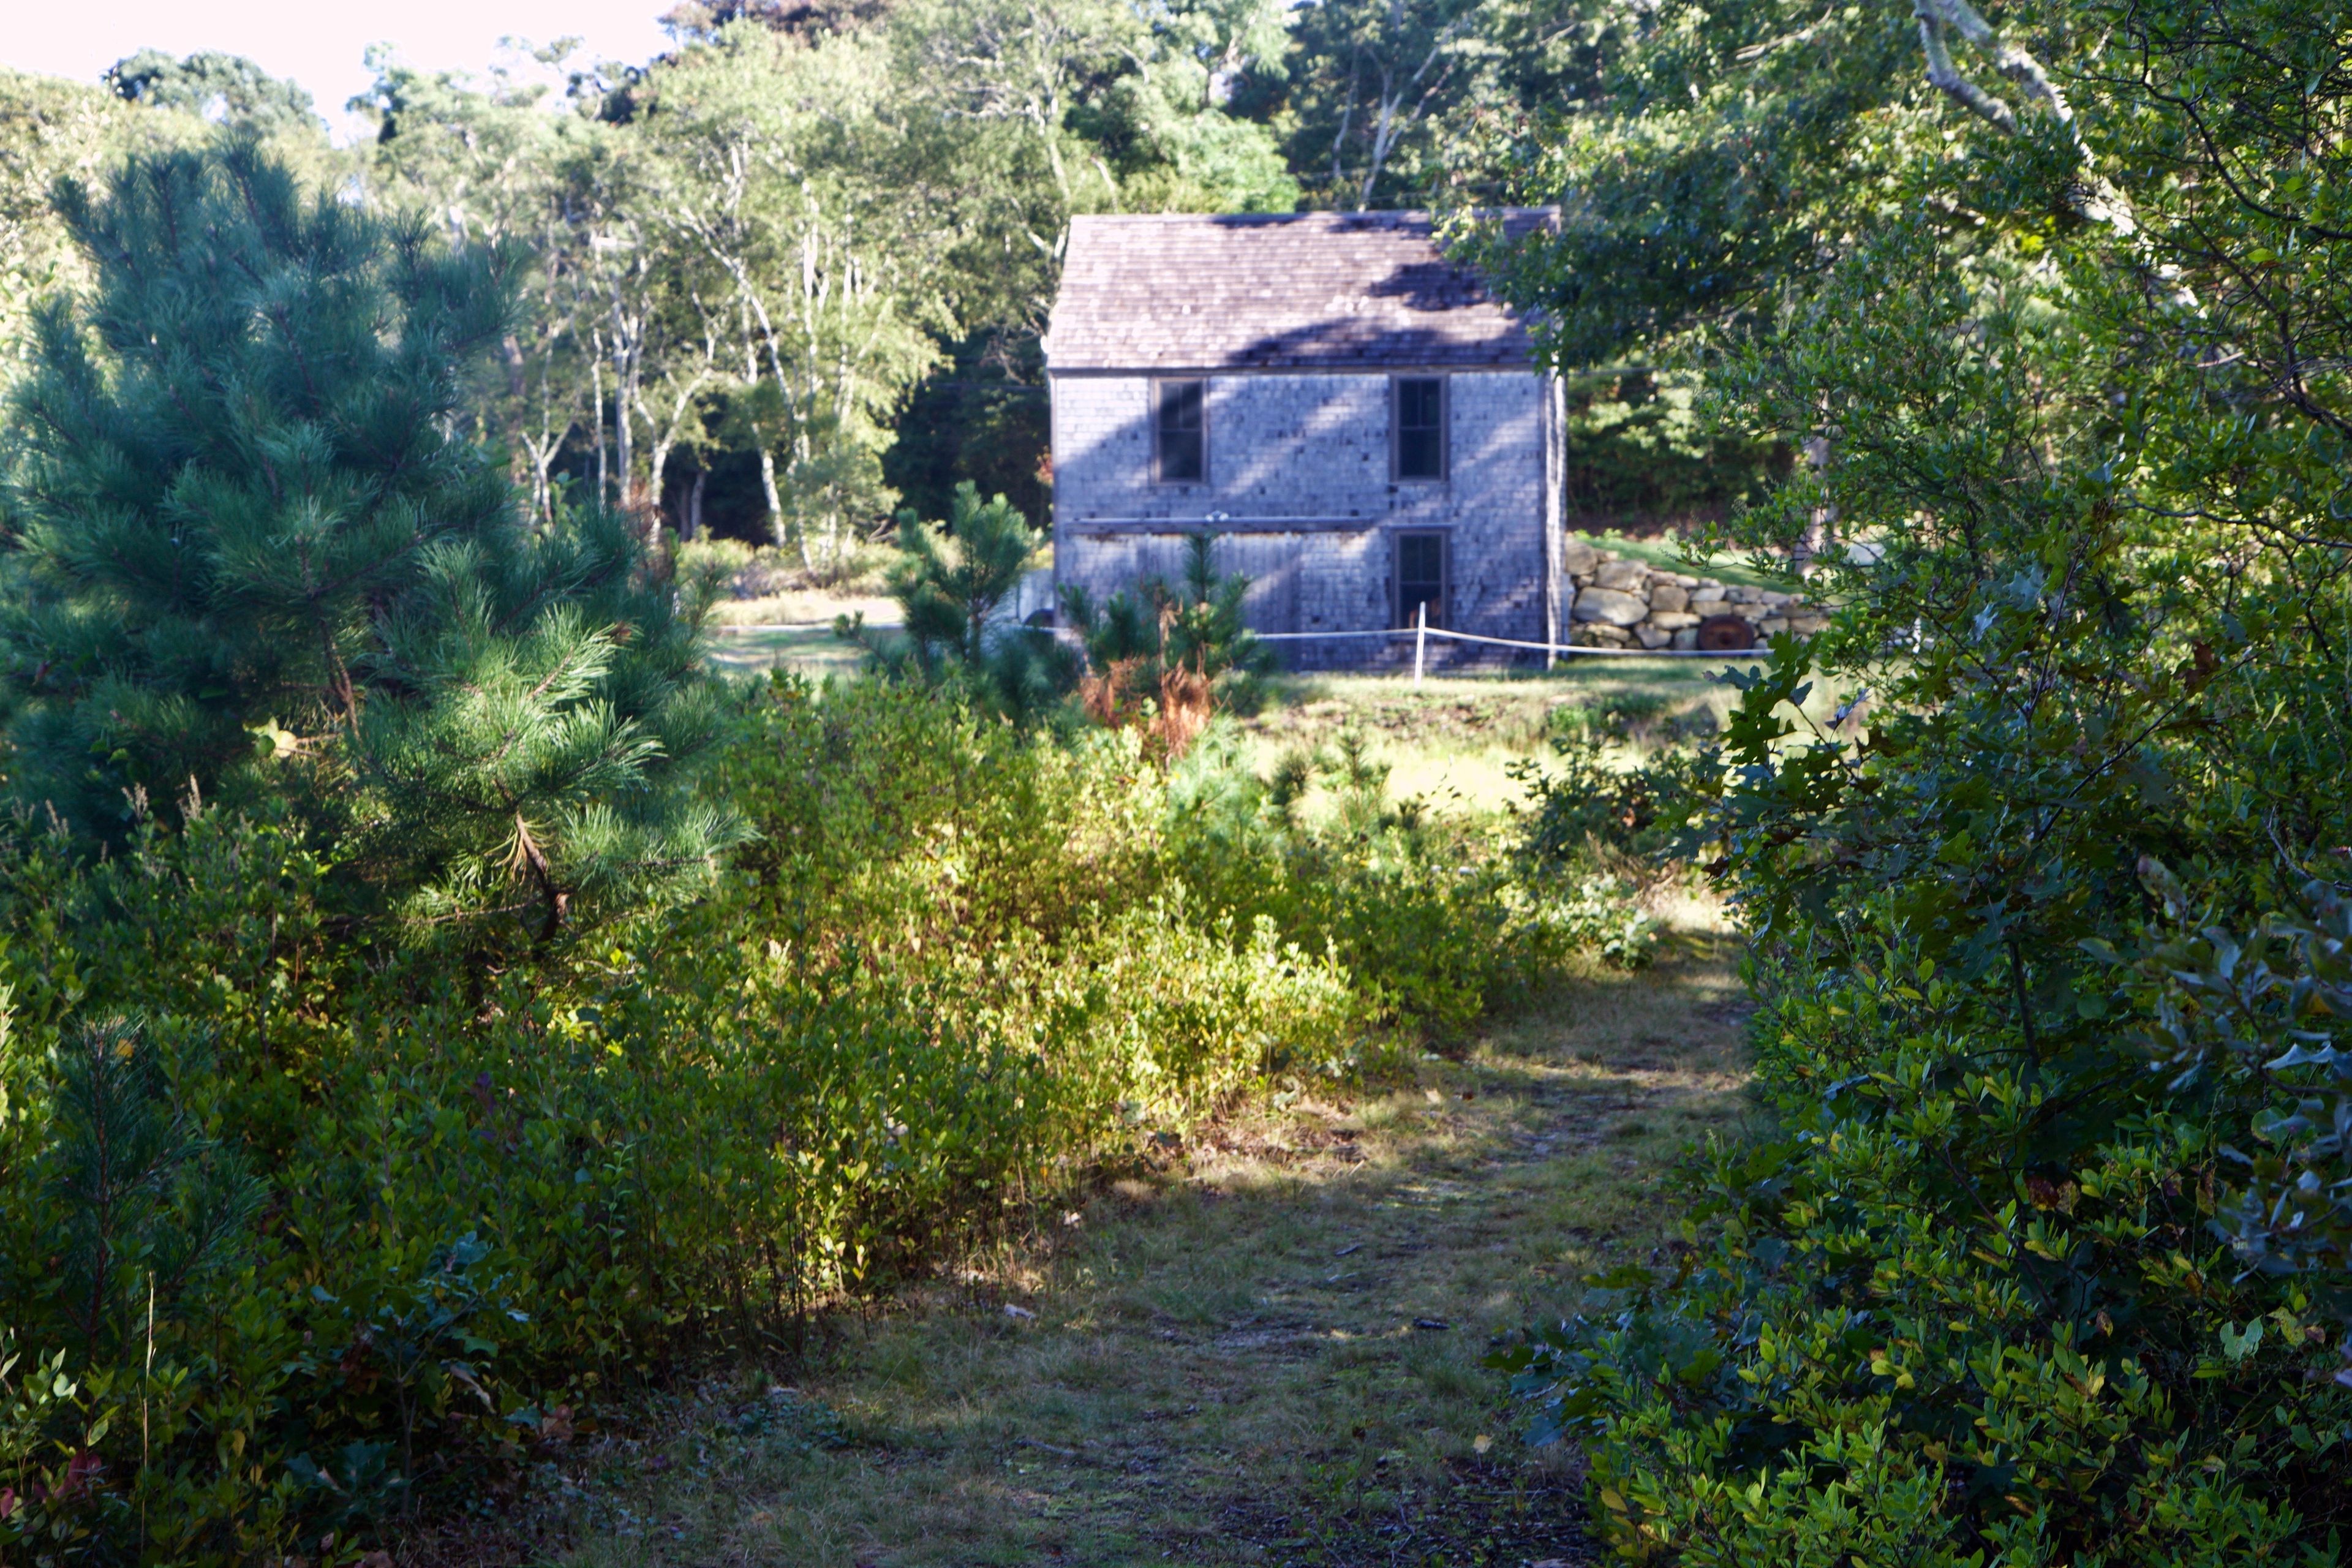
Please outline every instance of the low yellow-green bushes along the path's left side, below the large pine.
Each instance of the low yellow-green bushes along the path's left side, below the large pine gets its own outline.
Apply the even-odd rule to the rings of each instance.
[[[713,896],[506,964],[383,945],[268,813],[9,825],[9,1542],[348,1554],[1573,940],[1461,835],[920,686],[743,696],[715,788],[760,837]]]

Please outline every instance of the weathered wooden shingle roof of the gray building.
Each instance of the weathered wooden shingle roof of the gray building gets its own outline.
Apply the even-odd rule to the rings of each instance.
[[[1425,212],[1070,219],[1044,339],[1051,371],[1501,369],[1531,348]]]

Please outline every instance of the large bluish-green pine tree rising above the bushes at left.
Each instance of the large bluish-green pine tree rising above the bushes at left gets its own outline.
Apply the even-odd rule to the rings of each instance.
[[[96,287],[16,388],[9,790],[118,837],[292,797],[381,898],[546,938],[722,849],[699,609],[619,517],[534,534],[468,440],[508,256],[306,195],[256,141],[59,212]]]

